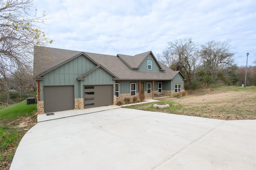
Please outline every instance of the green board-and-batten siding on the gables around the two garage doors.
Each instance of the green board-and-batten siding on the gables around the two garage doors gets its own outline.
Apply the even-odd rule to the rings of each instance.
[[[79,76],[88,72],[96,66],[95,63],[90,61],[87,57],[81,55],[76,57],[72,61],[65,63],[51,72],[44,75],[44,80],[40,81],[40,92],[41,100],[44,100],[44,86],[74,86],[74,97],[82,98],[83,90],[81,85],[100,85],[100,84],[113,84],[113,76],[110,75],[102,68],[98,68],[85,76],[85,80],[77,80]],[[81,82],[80,82],[81,81]],[[90,83],[89,83],[90,82]],[[83,87],[82,87],[83,88]]]

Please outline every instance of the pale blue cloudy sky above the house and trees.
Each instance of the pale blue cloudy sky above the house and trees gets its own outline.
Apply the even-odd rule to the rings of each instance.
[[[50,47],[156,56],[168,41],[229,39],[238,66],[256,61],[256,0],[34,0]]]

